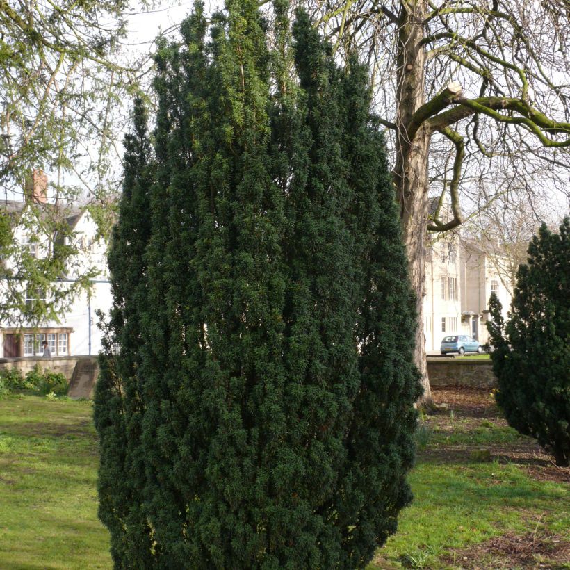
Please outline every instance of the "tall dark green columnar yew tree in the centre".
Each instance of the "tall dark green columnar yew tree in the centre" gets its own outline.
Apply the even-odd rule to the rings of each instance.
[[[411,499],[414,298],[367,72],[257,4],[197,3],[158,51],[153,156],[140,105],[127,140],[95,409],[118,568],[364,567]]]

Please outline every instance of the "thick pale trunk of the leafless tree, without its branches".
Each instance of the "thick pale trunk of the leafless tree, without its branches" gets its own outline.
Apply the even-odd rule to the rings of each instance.
[[[416,291],[416,350],[414,360],[422,375],[421,405],[432,403],[423,335],[423,295],[425,286],[425,238],[428,215],[428,149],[431,133],[425,127],[414,129],[412,117],[425,103],[425,52],[423,19],[426,0],[402,2],[399,15],[397,157],[394,169],[400,215],[407,247],[409,277]]]

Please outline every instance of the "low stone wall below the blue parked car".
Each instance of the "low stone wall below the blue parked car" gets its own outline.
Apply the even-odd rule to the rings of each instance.
[[[429,358],[430,386],[469,386],[491,389],[497,385],[490,360],[457,358]]]

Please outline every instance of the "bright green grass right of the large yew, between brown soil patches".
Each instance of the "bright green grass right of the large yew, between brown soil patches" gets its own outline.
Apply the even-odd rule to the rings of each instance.
[[[417,553],[424,553],[428,568],[447,568],[430,552],[446,553],[508,531],[532,532],[538,523],[570,539],[568,486],[539,482],[518,466],[418,464],[409,482],[414,503],[369,569],[412,567],[402,558]]]

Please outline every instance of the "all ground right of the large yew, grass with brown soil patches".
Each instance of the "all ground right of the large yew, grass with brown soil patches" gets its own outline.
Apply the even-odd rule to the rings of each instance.
[[[372,569],[570,569],[570,469],[499,416],[488,391],[439,389],[409,481],[416,500]]]

